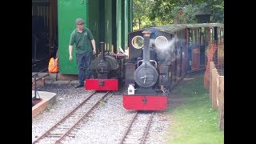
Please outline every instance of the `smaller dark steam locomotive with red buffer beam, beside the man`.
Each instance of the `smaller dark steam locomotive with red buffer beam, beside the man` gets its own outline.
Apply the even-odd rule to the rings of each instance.
[[[122,63],[124,54],[105,52],[105,43],[100,42],[101,52],[90,63],[92,77],[86,79],[86,90],[118,90],[118,83],[122,81]]]

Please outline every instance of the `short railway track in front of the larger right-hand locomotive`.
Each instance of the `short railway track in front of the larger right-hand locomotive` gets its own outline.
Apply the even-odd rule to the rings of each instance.
[[[154,112],[139,113],[137,111],[130,121],[130,125],[123,135],[120,144],[144,143],[150,130],[153,115]]]

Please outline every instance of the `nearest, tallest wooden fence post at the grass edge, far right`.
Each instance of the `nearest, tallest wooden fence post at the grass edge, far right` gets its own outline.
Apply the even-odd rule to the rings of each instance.
[[[218,130],[224,130],[224,76],[219,77],[218,103]]]

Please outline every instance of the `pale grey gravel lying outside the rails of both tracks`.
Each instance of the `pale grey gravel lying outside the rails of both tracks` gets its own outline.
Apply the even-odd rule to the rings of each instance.
[[[53,106],[32,119],[32,142],[92,92],[84,88],[75,89],[74,86],[71,82],[51,83],[38,88],[40,91],[54,92],[57,95]],[[63,143],[119,143],[134,113],[134,110],[123,108],[122,92],[115,92],[102,100],[85,121],[80,122],[73,132],[74,138],[66,137]],[[168,143],[166,136],[169,123],[165,111],[155,112],[146,143]]]

